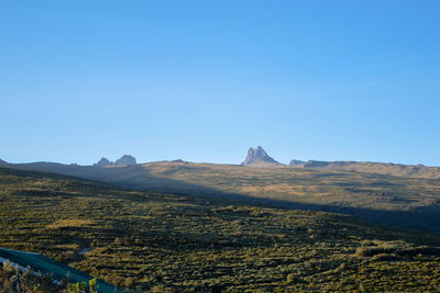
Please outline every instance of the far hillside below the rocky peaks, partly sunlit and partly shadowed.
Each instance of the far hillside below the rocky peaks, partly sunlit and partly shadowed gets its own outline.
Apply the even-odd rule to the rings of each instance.
[[[338,212],[377,224],[440,233],[436,179],[314,168],[160,161],[127,167],[9,165],[155,192],[240,199],[277,207]]]

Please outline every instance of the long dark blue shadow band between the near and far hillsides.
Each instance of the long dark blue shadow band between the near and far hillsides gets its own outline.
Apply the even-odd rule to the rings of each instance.
[[[156,177],[148,169],[141,166],[127,166],[119,168],[100,168],[68,166],[61,164],[37,162],[28,165],[10,165],[8,167],[22,170],[36,170],[74,176],[81,179],[97,180],[116,184],[121,188],[138,189],[151,192],[175,193],[210,200],[237,201],[258,206],[270,206],[288,210],[321,211],[329,213],[349,214],[367,222],[395,226],[400,228],[420,229],[440,234],[440,206],[420,207],[413,211],[382,211],[340,205],[308,204],[290,201],[253,198],[239,193],[223,191],[200,184],[188,183],[169,178]]]

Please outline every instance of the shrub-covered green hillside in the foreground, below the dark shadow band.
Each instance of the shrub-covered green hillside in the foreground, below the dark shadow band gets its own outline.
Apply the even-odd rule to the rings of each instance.
[[[436,291],[440,237],[0,168],[0,246],[125,288]]]

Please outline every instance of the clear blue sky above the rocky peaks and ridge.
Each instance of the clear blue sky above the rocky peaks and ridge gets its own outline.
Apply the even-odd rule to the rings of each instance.
[[[0,158],[440,166],[440,1],[0,2]]]

